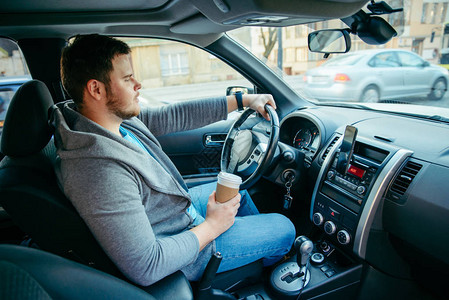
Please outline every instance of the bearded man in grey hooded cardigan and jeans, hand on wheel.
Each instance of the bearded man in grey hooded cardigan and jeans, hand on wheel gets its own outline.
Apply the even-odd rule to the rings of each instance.
[[[130,48],[102,35],[77,36],[61,59],[73,98],[54,114],[56,174],[111,260],[129,279],[149,285],[182,270],[198,280],[219,251],[219,272],[289,250],[293,224],[259,214],[246,191],[215,201],[215,183],[188,189],[156,136],[226,119],[239,105],[268,114],[271,95],[244,95],[141,108]]]

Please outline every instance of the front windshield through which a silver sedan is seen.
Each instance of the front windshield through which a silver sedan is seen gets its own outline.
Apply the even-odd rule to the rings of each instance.
[[[397,31],[383,45],[354,34],[346,54],[313,53],[309,33],[348,28],[341,20],[284,28],[246,27],[227,34],[317,105],[345,105],[449,118],[449,0],[386,1],[403,11],[382,15]]]

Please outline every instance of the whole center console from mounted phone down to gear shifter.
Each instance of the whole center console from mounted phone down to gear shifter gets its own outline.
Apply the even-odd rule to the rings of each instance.
[[[282,299],[332,295],[354,298],[362,277],[368,236],[376,212],[396,172],[412,154],[347,126],[323,149],[326,155],[312,196],[310,219],[322,231],[313,241],[310,263],[295,248],[291,259],[271,274],[273,292]]]

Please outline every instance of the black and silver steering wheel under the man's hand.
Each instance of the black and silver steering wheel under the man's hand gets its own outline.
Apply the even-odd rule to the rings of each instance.
[[[257,133],[253,128],[242,129],[243,123],[255,112],[248,108],[234,122],[223,145],[221,170],[241,176],[243,179],[241,189],[247,189],[259,180],[270,166],[276,152],[279,118],[272,106],[265,104],[265,110],[270,116],[271,129],[268,139],[265,134]]]

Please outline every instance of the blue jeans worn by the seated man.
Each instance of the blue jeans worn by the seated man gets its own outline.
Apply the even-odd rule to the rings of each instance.
[[[193,187],[189,190],[192,205],[198,215],[195,225],[206,217],[209,195],[216,182]],[[264,266],[279,261],[290,251],[295,239],[295,227],[281,214],[260,214],[251,196],[241,191],[240,207],[234,225],[215,239],[216,250],[221,253],[218,272],[224,272],[262,259]]]

